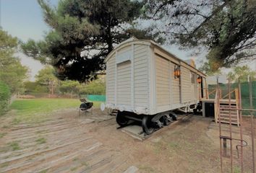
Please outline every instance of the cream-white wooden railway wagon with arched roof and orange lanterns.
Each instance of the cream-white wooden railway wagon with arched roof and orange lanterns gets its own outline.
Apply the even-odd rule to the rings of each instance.
[[[105,63],[106,107],[119,110],[119,125],[131,118],[142,120],[143,127],[143,119],[196,107],[206,96],[206,75],[152,40],[132,37],[117,45]]]

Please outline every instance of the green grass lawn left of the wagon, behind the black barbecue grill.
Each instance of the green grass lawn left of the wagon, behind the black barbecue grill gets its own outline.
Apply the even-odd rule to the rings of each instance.
[[[79,99],[17,99],[10,106],[16,110],[14,124],[37,121],[48,117],[54,110],[76,108],[81,104]],[[94,102],[94,107],[99,107],[100,102]]]

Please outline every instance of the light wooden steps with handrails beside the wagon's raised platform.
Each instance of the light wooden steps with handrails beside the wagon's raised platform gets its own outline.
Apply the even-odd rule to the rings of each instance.
[[[216,92],[215,100],[215,121],[218,123],[221,120],[221,123],[231,123],[233,125],[239,126],[239,94],[238,89],[234,89],[236,99],[223,99],[221,94],[218,97]],[[221,99],[220,99],[221,98]],[[236,109],[236,110],[232,110]]]

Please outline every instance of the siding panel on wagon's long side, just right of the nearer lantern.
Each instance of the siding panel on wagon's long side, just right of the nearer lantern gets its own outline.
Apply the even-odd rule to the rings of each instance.
[[[182,102],[189,102],[194,98],[192,94],[195,91],[191,91],[191,78],[190,71],[187,68],[182,66],[181,68],[181,76],[182,76]]]

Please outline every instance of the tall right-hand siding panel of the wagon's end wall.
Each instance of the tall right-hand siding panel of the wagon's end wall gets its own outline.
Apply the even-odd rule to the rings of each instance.
[[[148,45],[134,47],[134,102],[135,107],[148,107]]]

